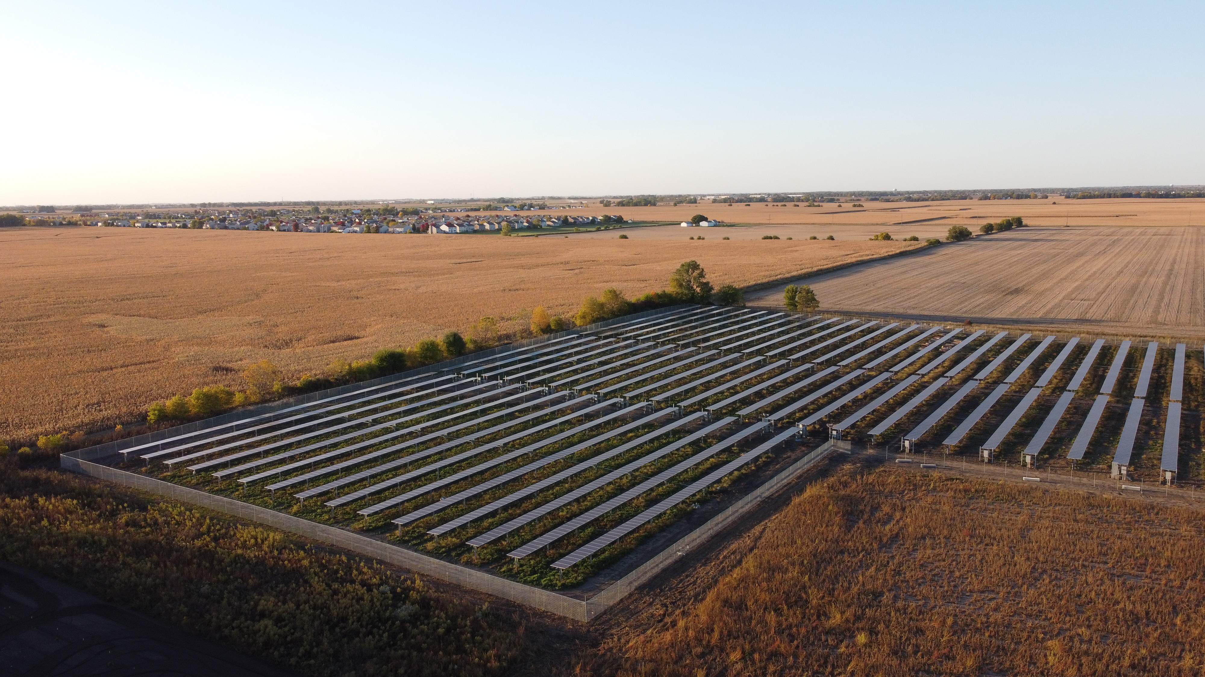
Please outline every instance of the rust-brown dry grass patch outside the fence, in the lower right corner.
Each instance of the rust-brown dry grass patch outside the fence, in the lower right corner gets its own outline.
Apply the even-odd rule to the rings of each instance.
[[[1203,535],[1181,507],[847,469],[574,672],[1199,675]]]

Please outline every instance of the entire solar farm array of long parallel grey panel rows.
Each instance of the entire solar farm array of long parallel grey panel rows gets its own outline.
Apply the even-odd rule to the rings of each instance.
[[[248,500],[284,491],[315,519],[393,524],[407,542],[436,537],[489,553],[496,546],[489,557],[547,557],[564,570],[660,524],[676,506],[825,422],[836,432],[865,426],[871,436],[904,422],[913,441],[940,424],[952,426],[947,446],[987,435],[983,447],[998,448],[1077,340],[1050,358],[1053,336],[1022,351],[1028,334],[1012,341],[1006,331],[986,334],[680,307],[181,434],[127,457],[159,464],[169,479],[195,473],[190,484],[246,491],[239,495]],[[1025,453],[1046,445],[1100,348],[1098,341],[1088,351]],[[1139,377],[1144,398],[1156,349],[1147,347]],[[1125,351],[1128,342],[1106,377],[1110,390]],[[1011,399],[1013,384],[1039,364],[1034,385]],[[976,432],[1004,398],[1009,413],[994,430]],[[1109,394],[1100,398],[1081,430],[1083,448]],[[1174,404],[1169,426],[1180,416]],[[1165,449],[1177,445],[1178,425],[1164,441]]]

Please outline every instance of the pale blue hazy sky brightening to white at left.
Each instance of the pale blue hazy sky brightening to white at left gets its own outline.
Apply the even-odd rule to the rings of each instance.
[[[0,205],[1205,183],[1205,4],[0,4]]]

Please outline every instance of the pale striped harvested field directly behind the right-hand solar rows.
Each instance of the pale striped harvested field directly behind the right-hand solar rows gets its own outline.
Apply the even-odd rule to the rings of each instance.
[[[1205,229],[1031,228],[806,279],[822,310],[1070,334],[1205,336]],[[782,289],[748,296],[781,304]]]

